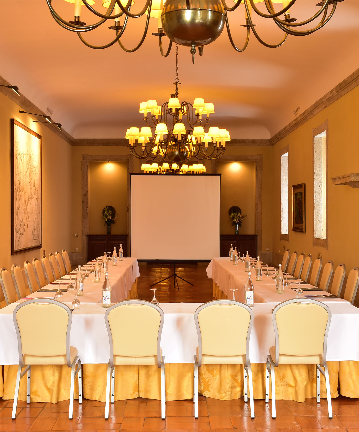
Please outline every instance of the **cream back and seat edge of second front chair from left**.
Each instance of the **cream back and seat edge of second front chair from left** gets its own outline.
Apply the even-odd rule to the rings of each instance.
[[[159,306],[145,300],[125,300],[107,309],[105,323],[110,340],[111,366],[113,356],[157,356],[158,367],[161,366],[164,312]]]

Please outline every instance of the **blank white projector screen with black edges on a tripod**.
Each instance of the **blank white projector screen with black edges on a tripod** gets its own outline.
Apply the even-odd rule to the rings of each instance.
[[[219,257],[220,175],[131,174],[131,257]]]

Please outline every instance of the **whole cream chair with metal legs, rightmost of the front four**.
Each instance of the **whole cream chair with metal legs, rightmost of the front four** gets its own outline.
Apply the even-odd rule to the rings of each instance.
[[[265,401],[269,402],[269,374],[271,374],[272,417],[275,418],[275,374],[278,365],[315,365],[317,372],[317,402],[320,402],[320,373],[327,388],[329,418],[331,388],[327,366],[327,340],[331,311],[314,299],[290,299],[277,305],[272,312],[275,346],[269,348],[266,365]],[[293,337],[293,329],[300,328]]]

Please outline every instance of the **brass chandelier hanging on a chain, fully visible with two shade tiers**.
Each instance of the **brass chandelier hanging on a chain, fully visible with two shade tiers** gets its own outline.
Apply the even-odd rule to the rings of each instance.
[[[156,161],[161,165],[164,162],[175,162],[174,169],[180,169],[178,164],[182,165],[192,158],[220,158],[226,149],[226,142],[230,141],[230,133],[218,127],[210,127],[208,132],[205,132],[204,127],[208,124],[209,116],[214,114],[214,105],[205,103],[203,98],[195,98],[193,105],[179,102],[178,45],[176,79],[173,84],[176,91],[163,105],[157,105],[156,100],[141,102],[139,112],[144,114],[146,126],[142,127],[141,131],[138,127],[127,129],[125,138],[129,140],[131,154],[138,159]],[[150,113],[149,118],[147,113]],[[202,116],[205,116],[205,119],[202,119]],[[187,127],[183,123],[184,119]],[[141,150],[137,150],[136,146],[141,147]]]

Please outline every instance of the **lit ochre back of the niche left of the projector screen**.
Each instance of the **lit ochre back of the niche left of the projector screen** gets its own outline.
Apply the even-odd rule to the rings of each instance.
[[[88,217],[90,234],[105,234],[102,209],[113,206],[117,213],[111,234],[127,234],[126,162],[90,162],[88,170]]]

